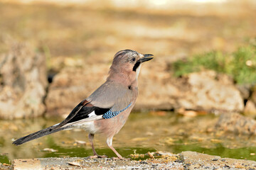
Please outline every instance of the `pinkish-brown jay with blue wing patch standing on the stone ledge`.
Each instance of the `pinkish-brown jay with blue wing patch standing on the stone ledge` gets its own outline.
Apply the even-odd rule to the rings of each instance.
[[[62,122],[46,129],[33,132],[13,142],[21,145],[60,130],[80,128],[89,133],[89,142],[94,158],[102,158],[93,145],[95,134],[106,137],[107,146],[112,147],[112,139],[126,123],[138,96],[138,76],[142,63],[152,60],[154,55],[141,54],[135,50],[120,50],[114,55],[108,77],[104,84],[89,97],[82,100]]]

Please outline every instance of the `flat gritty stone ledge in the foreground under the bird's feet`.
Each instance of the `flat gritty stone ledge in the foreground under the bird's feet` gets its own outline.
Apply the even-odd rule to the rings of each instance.
[[[12,169],[256,169],[256,162],[181,152],[163,154],[145,160],[120,160],[112,158],[89,159],[81,157],[15,159]]]

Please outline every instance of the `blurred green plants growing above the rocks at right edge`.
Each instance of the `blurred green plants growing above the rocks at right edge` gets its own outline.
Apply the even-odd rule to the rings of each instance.
[[[213,51],[194,55],[187,60],[174,62],[171,68],[176,77],[211,69],[230,75],[237,84],[252,84],[256,82],[256,45],[251,43],[239,47],[232,54]]]

